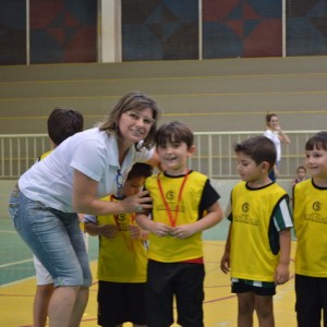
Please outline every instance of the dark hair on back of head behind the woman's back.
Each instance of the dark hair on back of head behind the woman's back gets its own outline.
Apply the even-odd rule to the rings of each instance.
[[[55,145],[83,131],[83,114],[74,109],[56,107],[48,118],[48,135]]]

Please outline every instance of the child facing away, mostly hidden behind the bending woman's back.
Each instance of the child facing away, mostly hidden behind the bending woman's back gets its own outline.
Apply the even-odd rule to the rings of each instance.
[[[69,136],[83,131],[84,119],[81,112],[73,109],[57,107],[48,118],[48,135],[51,141],[52,150]],[[38,160],[44,159],[52,150],[43,154]],[[36,270],[36,293],[34,298],[34,326],[44,327],[47,322],[48,304],[53,292],[53,280],[48,270],[34,255]]]

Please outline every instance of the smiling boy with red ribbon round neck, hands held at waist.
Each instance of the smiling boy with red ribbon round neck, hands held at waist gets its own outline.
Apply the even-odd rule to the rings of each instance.
[[[136,215],[148,230],[149,249],[146,284],[149,327],[173,324],[175,296],[178,324],[203,326],[203,282],[205,277],[202,231],[222,219],[219,194],[207,177],[187,168],[195,150],[194,135],[179,121],[160,126],[155,136],[164,173],[148,178],[153,198],[149,213]]]

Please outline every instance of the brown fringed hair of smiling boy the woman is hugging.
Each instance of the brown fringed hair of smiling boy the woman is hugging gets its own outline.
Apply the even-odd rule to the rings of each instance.
[[[155,135],[156,146],[165,146],[167,143],[186,143],[187,148],[194,144],[194,134],[190,126],[181,121],[164,123]]]

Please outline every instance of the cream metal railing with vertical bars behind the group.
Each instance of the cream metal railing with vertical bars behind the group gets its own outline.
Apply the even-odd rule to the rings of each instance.
[[[294,177],[304,164],[304,145],[318,131],[286,131],[291,144],[282,145],[279,178]],[[191,169],[210,179],[238,179],[233,144],[263,131],[194,132],[196,153],[189,159]],[[17,179],[43,153],[51,148],[47,134],[0,134],[0,180]]]

